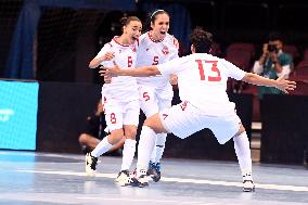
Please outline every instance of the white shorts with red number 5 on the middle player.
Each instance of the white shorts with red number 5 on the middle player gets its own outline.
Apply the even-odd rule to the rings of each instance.
[[[139,87],[140,107],[146,117],[170,107],[174,98],[172,88],[157,89],[150,86]]]

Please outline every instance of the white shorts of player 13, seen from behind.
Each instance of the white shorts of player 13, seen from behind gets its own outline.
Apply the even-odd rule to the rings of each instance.
[[[228,142],[239,131],[241,124],[235,111],[222,116],[208,116],[189,102],[159,112],[159,117],[167,131],[181,139],[208,128],[220,144]]]

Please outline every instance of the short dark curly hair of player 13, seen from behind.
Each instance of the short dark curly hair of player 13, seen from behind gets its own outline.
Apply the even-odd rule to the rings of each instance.
[[[213,46],[213,35],[202,27],[196,27],[191,33],[191,43],[196,53],[208,53]]]

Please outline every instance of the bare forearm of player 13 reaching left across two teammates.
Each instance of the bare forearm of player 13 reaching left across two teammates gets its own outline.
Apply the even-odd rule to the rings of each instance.
[[[139,68],[120,69],[119,66],[114,62],[114,67],[101,67],[99,72],[101,76],[133,76],[133,77],[147,77],[159,75],[161,72],[156,66],[143,66]]]

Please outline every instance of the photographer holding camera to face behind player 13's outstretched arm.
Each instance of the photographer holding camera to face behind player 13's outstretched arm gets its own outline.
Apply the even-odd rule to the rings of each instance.
[[[255,62],[253,72],[266,78],[277,79],[281,76],[288,78],[291,66],[293,65],[292,56],[282,51],[283,40],[277,33],[271,33],[268,37],[268,43],[262,47],[262,54]],[[281,94],[282,92],[274,87],[258,87],[258,99],[261,100],[264,94]]]

